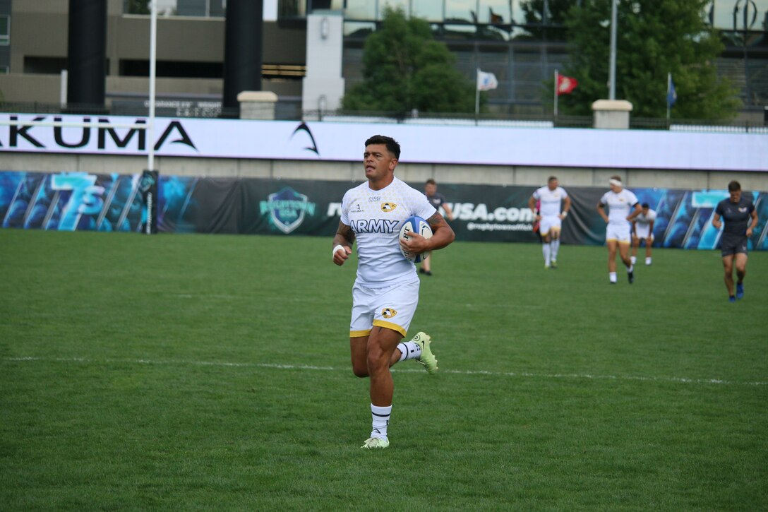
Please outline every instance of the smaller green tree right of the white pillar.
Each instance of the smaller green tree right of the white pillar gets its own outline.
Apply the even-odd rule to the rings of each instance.
[[[363,81],[346,91],[343,108],[407,115],[475,111],[475,83],[455,68],[448,47],[429,23],[386,8],[382,26],[366,38]]]

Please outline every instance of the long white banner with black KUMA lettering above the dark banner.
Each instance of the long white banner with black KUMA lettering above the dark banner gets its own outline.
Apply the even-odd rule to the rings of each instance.
[[[768,170],[768,137],[753,133],[599,130],[333,121],[146,118],[0,113],[2,151],[360,161],[367,137],[389,135],[403,163],[568,168]]]

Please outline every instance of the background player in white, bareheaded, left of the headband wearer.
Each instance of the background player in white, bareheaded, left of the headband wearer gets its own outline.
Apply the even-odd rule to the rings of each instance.
[[[558,268],[560,230],[563,219],[571,209],[571,198],[564,188],[558,186],[558,178],[550,176],[547,186],[538,188],[528,199],[528,208],[533,211],[534,221],[539,221],[539,232],[543,238],[541,252],[544,253],[544,268]]]

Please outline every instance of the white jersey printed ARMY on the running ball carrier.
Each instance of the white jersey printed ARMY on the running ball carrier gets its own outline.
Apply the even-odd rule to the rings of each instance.
[[[429,219],[435,211],[423,192],[398,178],[381,190],[371,190],[366,181],[347,191],[341,221],[355,233],[357,282],[379,288],[415,278],[415,264],[400,252],[400,227],[411,215]]]

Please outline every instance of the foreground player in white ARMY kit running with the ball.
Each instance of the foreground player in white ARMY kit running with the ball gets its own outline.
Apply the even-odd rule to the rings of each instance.
[[[374,135],[366,141],[363,165],[367,181],[344,194],[341,221],[333,238],[333,263],[343,265],[357,240],[357,278],[353,287],[349,349],[357,377],[370,377],[372,429],[363,448],[389,446],[387,427],[392,413],[394,384],[389,367],[415,359],[430,374],[437,360],[430,337],[419,332],[402,342],[419,303],[419,276],[400,246],[413,254],[444,248],[453,230],[420,191],[395,178],[400,145],[391,137]],[[425,218],[432,238],[409,234],[399,241],[403,221]]]

